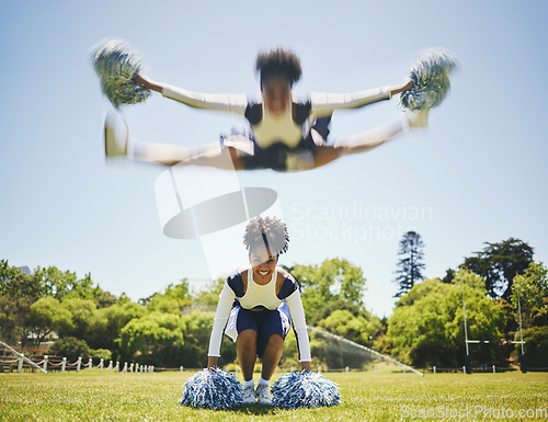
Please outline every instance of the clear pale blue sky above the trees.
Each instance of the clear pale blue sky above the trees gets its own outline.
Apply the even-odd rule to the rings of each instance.
[[[2,1],[0,3],[0,259],[91,273],[137,300],[183,277],[205,286],[246,262],[243,247],[162,233],[156,181],[165,171],[106,166],[110,107],[90,48],[125,38],[148,73],[202,92],[258,92],[261,49],[293,48],[309,91],[347,92],[403,81],[427,47],[460,61],[427,132],[324,168],[238,174],[274,189],[289,226],[284,264],[345,258],[363,269],[366,306],[390,315],[398,243],[415,229],[425,274],[510,237],[548,262],[548,30],[545,1]],[[332,136],[399,116],[397,100],[338,112]],[[244,122],[155,95],[125,111],[139,139],[193,146]],[[203,185],[189,170],[189,183]],[[230,236],[241,244],[242,227]],[[227,238],[228,231],[224,233]],[[212,274],[213,273],[213,274]]]

